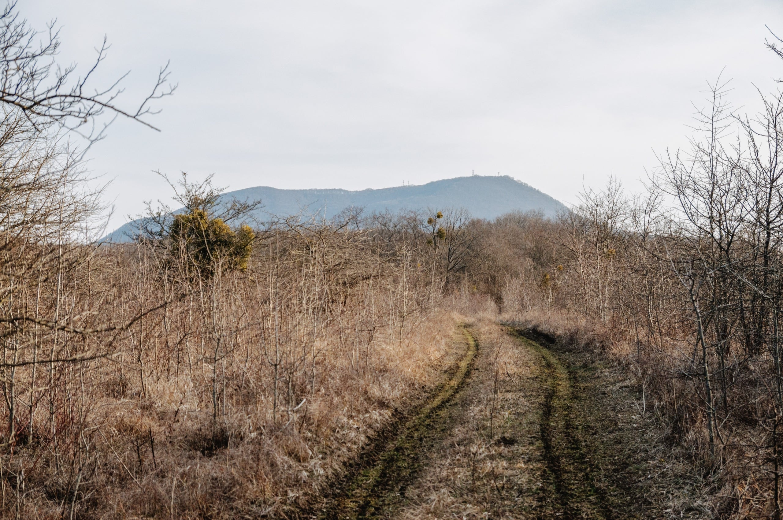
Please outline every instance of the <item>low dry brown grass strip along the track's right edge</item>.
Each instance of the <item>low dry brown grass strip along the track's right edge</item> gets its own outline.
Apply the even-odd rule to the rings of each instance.
[[[604,369],[608,377],[619,381],[615,390],[626,390],[614,392],[605,405],[614,409],[621,428],[624,424],[629,430],[637,430],[637,424],[644,424],[640,435],[628,439],[636,443],[635,450],[644,453],[644,459],[653,463],[648,471],[655,481],[649,482],[653,489],[646,493],[657,495],[651,499],[653,504],[658,503],[655,511],[659,516],[655,518],[747,518],[762,514],[759,495],[755,495],[756,500],[747,500],[742,509],[727,510],[742,491],[734,488],[731,479],[742,474],[745,482],[753,478],[748,476],[747,461],[738,460],[733,450],[727,450],[727,458],[719,467],[710,464],[703,412],[696,404],[698,394],[687,382],[672,377],[681,370],[680,353],[685,342],[670,341],[668,351],[645,350],[640,355],[626,330],[601,327],[568,312],[536,310],[511,318],[521,327],[554,338],[557,348],[574,352],[580,359],[608,363]],[[682,421],[683,416],[687,422]],[[751,439],[752,434],[746,428],[737,435]],[[745,493],[759,491],[746,489]]]

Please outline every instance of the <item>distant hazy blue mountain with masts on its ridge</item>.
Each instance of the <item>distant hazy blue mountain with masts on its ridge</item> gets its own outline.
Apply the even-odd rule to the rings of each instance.
[[[428,182],[421,186],[395,186],[380,190],[279,190],[257,186],[224,193],[226,199],[261,200],[263,208],[255,215],[269,220],[270,215],[323,215],[331,218],[349,207],[373,211],[401,209],[440,210],[466,208],[475,218],[495,218],[510,211],[542,211],[552,217],[565,205],[546,193],[508,175],[456,177]],[[133,222],[128,222],[103,240],[124,242],[132,234]]]

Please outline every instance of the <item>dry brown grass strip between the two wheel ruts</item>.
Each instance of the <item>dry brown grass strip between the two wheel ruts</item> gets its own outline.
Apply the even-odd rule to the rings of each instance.
[[[463,415],[407,491],[412,504],[400,518],[519,518],[529,507],[511,495],[519,486],[534,487],[539,474],[533,456],[537,424],[518,422],[535,406],[531,395],[519,392],[537,386],[533,359],[490,316],[471,323],[471,331],[481,356],[460,398]]]

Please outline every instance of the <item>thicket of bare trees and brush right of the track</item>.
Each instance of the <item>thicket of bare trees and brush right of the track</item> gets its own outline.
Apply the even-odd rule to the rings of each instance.
[[[754,117],[721,85],[708,101],[643,196],[610,179],[555,222],[477,224],[478,278],[510,318],[626,364],[644,410],[721,482],[720,515],[780,518],[783,94]]]

